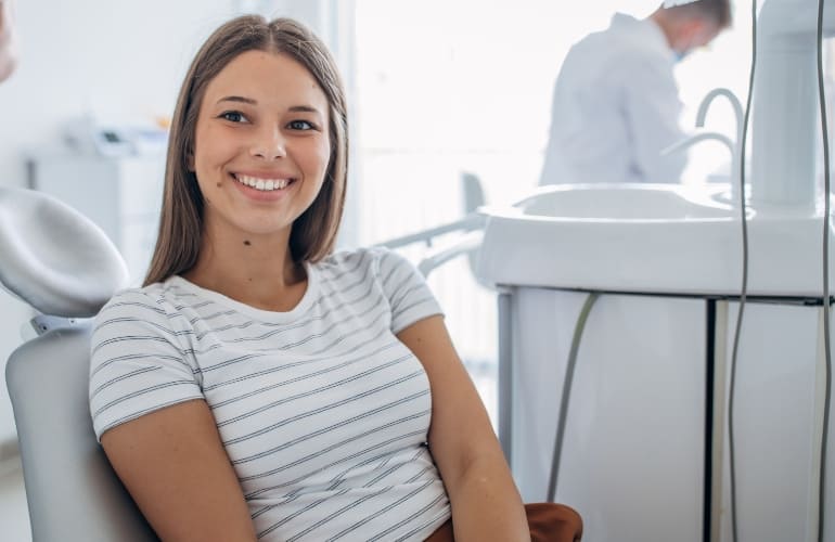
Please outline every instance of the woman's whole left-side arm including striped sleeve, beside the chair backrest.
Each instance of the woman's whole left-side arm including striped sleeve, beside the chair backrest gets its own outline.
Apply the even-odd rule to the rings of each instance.
[[[107,459],[163,540],[252,541],[252,519],[202,392],[188,319],[126,291],[95,319],[90,413]]]

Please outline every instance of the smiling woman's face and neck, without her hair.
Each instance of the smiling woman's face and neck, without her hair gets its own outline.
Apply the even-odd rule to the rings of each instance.
[[[190,157],[204,216],[203,246],[185,279],[262,309],[298,302],[306,280],[290,237],[324,182],[327,125],[324,92],[286,54],[246,51],[218,73]]]

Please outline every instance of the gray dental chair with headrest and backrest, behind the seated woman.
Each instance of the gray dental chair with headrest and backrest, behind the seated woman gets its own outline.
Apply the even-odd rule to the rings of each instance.
[[[37,336],[5,367],[34,542],[158,540],[97,442],[88,406],[90,319],[127,283],[89,219],[42,193],[0,188],[0,285],[38,313]]]

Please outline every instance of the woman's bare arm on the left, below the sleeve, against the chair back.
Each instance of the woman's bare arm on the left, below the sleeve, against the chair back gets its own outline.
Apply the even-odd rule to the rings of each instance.
[[[187,401],[138,417],[107,430],[101,441],[162,540],[256,540],[237,477],[205,401]]]

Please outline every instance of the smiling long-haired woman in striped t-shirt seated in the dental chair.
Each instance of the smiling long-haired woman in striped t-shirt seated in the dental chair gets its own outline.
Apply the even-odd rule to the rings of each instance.
[[[346,124],[333,60],[297,23],[240,17],[201,49],[145,285],[95,321],[108,460],[163,540],[579,538],[568,508],[526,521],[416,270],[332,254]]]

